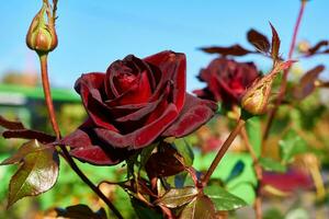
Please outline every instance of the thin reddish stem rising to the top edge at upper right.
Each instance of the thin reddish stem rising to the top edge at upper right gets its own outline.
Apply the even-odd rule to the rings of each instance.
[[[297,38],[297,34],[298,34],[300,21],[302,21],[303,14],[304,14],[305,5],[306,5],[306,0],[302,0],[299,13],[298,13],[297,21],[296,21],[296,24],[295,24],[295,27],[294,27],[294,33],[293,33],[293,38],[292,38],[292,43],[291,43],[291,48],[290,48],[290,51],[288,51],[288,57],[287,57],[288,60],[293,58],[293,53],[294,53],[294,49],[295,49],[295,46],[296,46],[296,38]],[[269,137],[270,128],[271,128],[271,125],[273,123],[274,116],[275,116],[275,114],[277,112],[277,108],[279,108],[279,106],[280,106],[283,97],[284,97],[284,94],[286,92],[287,74],[290,72],[290,69],[291,68],[287,68],[283,72],[283,78],[282,78],[281,87],[280,87],[280,92],[279,92],[275,105],[272,108],[272,111],[270,111],[269,119],[268,119],[268,122],[265,124],[265,129],[264,129],[264,135],[263,135],[263,141],[265,141],[268,139],[268,137]]]

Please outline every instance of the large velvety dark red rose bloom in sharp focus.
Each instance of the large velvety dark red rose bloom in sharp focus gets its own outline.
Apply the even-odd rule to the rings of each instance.
[[[216,104],[185,92],[183,54],[162,51],[114,61],[106,73],[76,82],[89,119],[61,143],[93,164],[115,164],[164,137],[183,137],[206,123]]]

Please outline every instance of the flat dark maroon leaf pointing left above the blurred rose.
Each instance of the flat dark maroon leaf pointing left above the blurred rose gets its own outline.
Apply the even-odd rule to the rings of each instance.
[[[220,54],[223,56],[245,56],[247,54],[251,54],[254,51],[250,51],[243,47],[241,47],[238,44],[235,44],[232,46],[228,47],[220,47],[220,46],[214,46],[214,47],[203,47],[201,50],[207,53],[207,54]]]

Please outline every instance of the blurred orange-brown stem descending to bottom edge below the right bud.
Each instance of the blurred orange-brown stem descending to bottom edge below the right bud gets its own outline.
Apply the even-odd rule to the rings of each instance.
[[[256,218],[261,219],[262,218],[262,197],[261,197],[260,192],[261,192],[261,182],[262,182],[263,170],[259,163],[258,157],[257,157],[252,146],[250,145],[245,126],[242,127],[240,135],[241,135],[243,142],[246,143],[247,150],[249,151],[251,159],[253,161],[253,170],[254,170],[256,177],[257,177],[256,200],[254,200],[253,208],[254,208],[254,212],[256,212]]]

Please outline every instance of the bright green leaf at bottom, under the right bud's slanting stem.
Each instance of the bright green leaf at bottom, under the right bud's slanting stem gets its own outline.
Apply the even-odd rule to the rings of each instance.
[[[245,200],[219,186],[207,186],[204,188],[204,194],[212,199],[216,206],[216,210],[235,210],[247,205]]]

